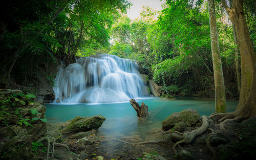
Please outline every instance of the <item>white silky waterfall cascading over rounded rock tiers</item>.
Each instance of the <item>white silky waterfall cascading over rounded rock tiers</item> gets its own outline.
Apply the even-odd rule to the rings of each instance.
[[[60,68],[55,82],[55,102],[123,102],[145,95],[137,63],[114,55],[79,58]]]

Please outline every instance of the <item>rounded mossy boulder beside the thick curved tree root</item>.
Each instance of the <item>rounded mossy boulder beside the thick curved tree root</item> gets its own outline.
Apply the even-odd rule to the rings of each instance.
[[[176,123],[184,122],[186,126],[196,124],[200,119],[200,115],[196,109],[189,108],[180,112],[172,113],[162,122],[162,129],[172,129]]]

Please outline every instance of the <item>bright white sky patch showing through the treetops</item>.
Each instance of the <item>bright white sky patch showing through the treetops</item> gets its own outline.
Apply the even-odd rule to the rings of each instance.
[[[140,12],[142,9],[142,6],[150,6],[152,9],[156,9],[157,11],[161,11],[162,4],[165,4],[166,1],[160,1],[160,0],[129,0],[133,6],[131,6],[130,9],[127,9],[127,16],[131,18],[132,20],[136,19],[140,16]]]

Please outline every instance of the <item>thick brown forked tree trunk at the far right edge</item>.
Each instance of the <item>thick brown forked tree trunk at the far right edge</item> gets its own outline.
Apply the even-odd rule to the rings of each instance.
[[[235,116],[256,116],[256,56],[243,12],[243,1],[234,0],[233,7],[228,7],[225,0],[222,6],[236,28],[241,55],[241,92]]]

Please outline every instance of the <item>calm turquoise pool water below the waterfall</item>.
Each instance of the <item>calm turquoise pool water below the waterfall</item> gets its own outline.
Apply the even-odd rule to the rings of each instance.
[[[47,107],[46,117],[49,123],[65,122],[76,116],[88,117],[102,115],[106,121],[98,129],[100,135],[127,136],[141,135],[142,137],[161,127],[161,122],[173,112],[179,112],[187,108],[197,109],[200,116],[209,116],[215,111],[214,100],[199,100],[194,98],[177,98],[166,100],[161,98],[136,99],[141,104],[148,106],[150,118],[141,123],[137,113],[130,102],[102,103],[102,104],[67,104],[51,103]],[[227,112],[234,111],[238,101],[227,101]]]

